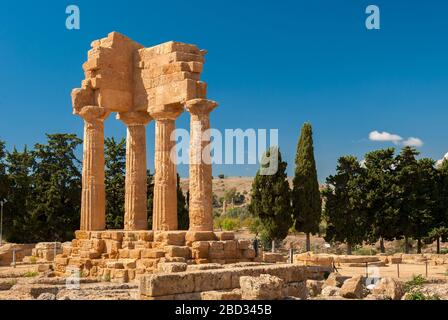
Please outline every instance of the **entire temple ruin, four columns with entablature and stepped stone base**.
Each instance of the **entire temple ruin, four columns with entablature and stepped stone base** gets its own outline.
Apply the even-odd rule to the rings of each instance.
[[[203,151],[210,144],[209,115],[217,104],[207,99],[200,80],[205,54],[179,42],[145,48],[116,32],[92,43],[83,65],[85,80],[72,92],[74,113],[84,119],[81,224],[56,257],[57,272],[128,282],[187,265],[264,259],[255,256],[249,240],[213,231],[212,168]],[[190,227],[179,231],[171,134],[185,111],[191,115]],[[104,120],[113,112],[127,126],[124,230],[106,230]],[[145,126],[150,121],[156,122],[153,230],[147,230],[146,209]]]

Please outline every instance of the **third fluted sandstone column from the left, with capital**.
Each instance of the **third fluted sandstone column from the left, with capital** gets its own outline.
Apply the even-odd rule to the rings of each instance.
[[[154,112],[156,120],[153,230],[177,230],[177,171],[171,134],[181,111]]]

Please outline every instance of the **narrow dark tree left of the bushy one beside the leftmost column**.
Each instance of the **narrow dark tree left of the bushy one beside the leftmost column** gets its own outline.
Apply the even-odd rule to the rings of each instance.
[[[27,147],[22,152],[14,148],[7,154],[6,166],[9,190],[4,215],[5,238],[10,242],[30,243],[34,241],[36,228],[30,211],[34,155]]]

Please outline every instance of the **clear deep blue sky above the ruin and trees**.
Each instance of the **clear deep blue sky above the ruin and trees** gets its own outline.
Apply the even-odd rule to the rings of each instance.
[[[80,30],[65,28],[69,4],[81,10]],[[381,10],[381,30],[365,28],[369,4]],[[22,148],[45,133],[81,136],[70,91],[90,42],[118,31],[145,46],[175,40],[208,50],[203,79],[220,104],[213,127],[279,129],[290,175],[305,121],[320,181],[342,155],[394,146],[370,141],[375,130],[401,136],[398,146],[419,138],[422,155],[440,159],[448,152],[447,12],[442,0],[2,1],[0,139]],[[177,125],[188,122],[184,114]],[[147,131],[152,168],[153,123]],[[123,137],[125,127],[110,117],[106,135]],[[214,167],[215,175],[255,171]]]

